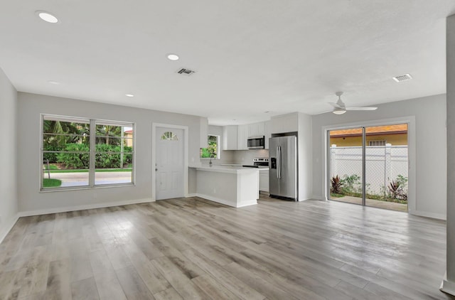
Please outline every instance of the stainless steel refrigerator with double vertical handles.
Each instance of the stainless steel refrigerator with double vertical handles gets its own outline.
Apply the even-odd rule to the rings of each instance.
[[[297,200],[297,137],[269,139],[269,193],[271,197]]]

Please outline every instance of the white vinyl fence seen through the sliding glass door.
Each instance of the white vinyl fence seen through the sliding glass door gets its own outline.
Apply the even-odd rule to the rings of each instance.
[[[358,175],[362,178],[362,147],[332,145],[331,176]],[[367,193],[380,195],[399,175],[407,178],[407,146],[366,146],[365,178]],[[407,188],[406,188],[407,189]]]

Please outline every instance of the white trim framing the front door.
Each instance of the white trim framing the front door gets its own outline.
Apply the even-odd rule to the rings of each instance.
[[[156,127],[183,129],[183,196],[188,197],[188,126],[151,123],[151,200],[156,201]]]

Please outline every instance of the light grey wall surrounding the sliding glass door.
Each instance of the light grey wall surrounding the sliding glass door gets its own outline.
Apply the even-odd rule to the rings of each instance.
[[[374,112],[315,115],[313,127],[313,195],[325,197],[323,127],[415,116],[415,210],[412,213],[446,218],[446,95],[378,105]]]

